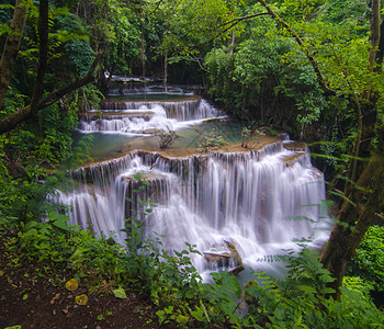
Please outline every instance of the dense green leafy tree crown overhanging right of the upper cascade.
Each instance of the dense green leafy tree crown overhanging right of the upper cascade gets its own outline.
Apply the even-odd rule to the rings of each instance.
[[[292,41],[279,35],[274,22],[259,19],[248,37],[231,55],[212,49],[204,65],[210,71],[210,93],[240,117],[262,118],[264,112],[275,122],[292,117],[289,125],[303,136],[320,118],[326,101],[312,66],[303,64],[303,56],[293,52]],[[272,112],[273,99],[294,103],[294,111]],[[257,104],[264,104],[258,109]],[[261,115],[260,115],[261,112]]]

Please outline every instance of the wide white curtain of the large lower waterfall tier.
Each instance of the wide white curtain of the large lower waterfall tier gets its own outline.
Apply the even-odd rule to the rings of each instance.
[[[149,182],[139,194],[134,192],[136,173]],[[323,174],[307,151],[289,150],[281,141],[259,151],[187,158],[133,151],[71,177],[76,189],[54,196],[74,207],[70,224],[123,242],[123,219],[138,214],[145,235],[163,235],[165,248],[182,250],[188,241],[210,256],[193,256],[201,272],[213,268],[207,258],[228,254],[228,243],[246,265],[255,266],[257,259],[292,247],[293,238],[312,236],[324,216]],[[148,198],[157,206],[142,216],[139,200]],[[233,264],[228,259],[223,263]]]

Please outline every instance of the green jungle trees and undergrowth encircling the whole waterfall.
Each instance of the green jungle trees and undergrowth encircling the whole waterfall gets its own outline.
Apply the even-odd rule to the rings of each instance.
[[[26,261],[98,269],[115,284],[135,286],[159,307],[160,322],[382,328],[382,21],[380,0],[2,1],[4,246]],[[46,196],[86,152],[88,140],[74,148],[78,114],[98,106],[113,73],[202,84],[245,126],[271,126],[308,143],[337,208],[321,254],[304,248],[289,257],[285,281],[260,274],[263,285],[242,287],[221,273],[205,285],[188,260],[192,246],[162,254],[133,228],[140,242],[128,245],[127,257],[68,228]],[[52,235],[57,243],[47,242]],[[246,316],[233,298],[244,292]]]

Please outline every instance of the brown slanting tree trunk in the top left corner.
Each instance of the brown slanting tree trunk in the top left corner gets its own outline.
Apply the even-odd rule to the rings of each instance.
[[[16,0],[8,34],[0,59],[0,107],[5,99],[11,82],[13,67],[16,61],[20,43],[26,21],[27,7],[31,0]]]

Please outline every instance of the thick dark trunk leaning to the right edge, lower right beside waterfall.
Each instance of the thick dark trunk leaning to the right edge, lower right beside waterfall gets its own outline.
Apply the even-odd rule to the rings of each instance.
[[[320,261],[336,281],[331,283],[335,297],[340,298],[339,287],[349,262],[360,245],[376,213],[383,211],[384,200],[384,129],[379,134],[379,146],[360,175],[357,185],[345,201],[337,217]]]

